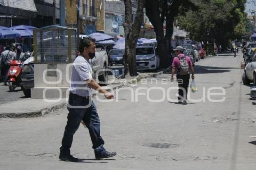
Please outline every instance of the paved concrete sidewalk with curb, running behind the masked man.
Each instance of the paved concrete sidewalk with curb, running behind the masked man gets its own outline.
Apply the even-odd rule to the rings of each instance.
[[[163,72],[157,73],[142,73],[136,77],[127,76],[125,79],[115,79],[114,83],[105,86],[108,90],[110,89],[118,89],[123,87],[125,81],[126,83],[135,83],[136,81],[140,81],[142,78],[146,77],[155,77]],[[98,92],[93,90],[92,95],[96,95]],[[22,117],[39,117],[44,114],[51,113],[60,108],[66,106],[67,99],[49,99],[48,101],[45,99],[23,99],[14,102],[9,102],[0,105],[0,118],[22,118]]]

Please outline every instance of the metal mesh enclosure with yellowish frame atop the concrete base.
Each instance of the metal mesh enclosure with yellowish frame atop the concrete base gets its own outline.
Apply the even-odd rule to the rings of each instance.
[[[76,30],[64,28],[34,31],[35,63],[73,62],[76,57]]]

